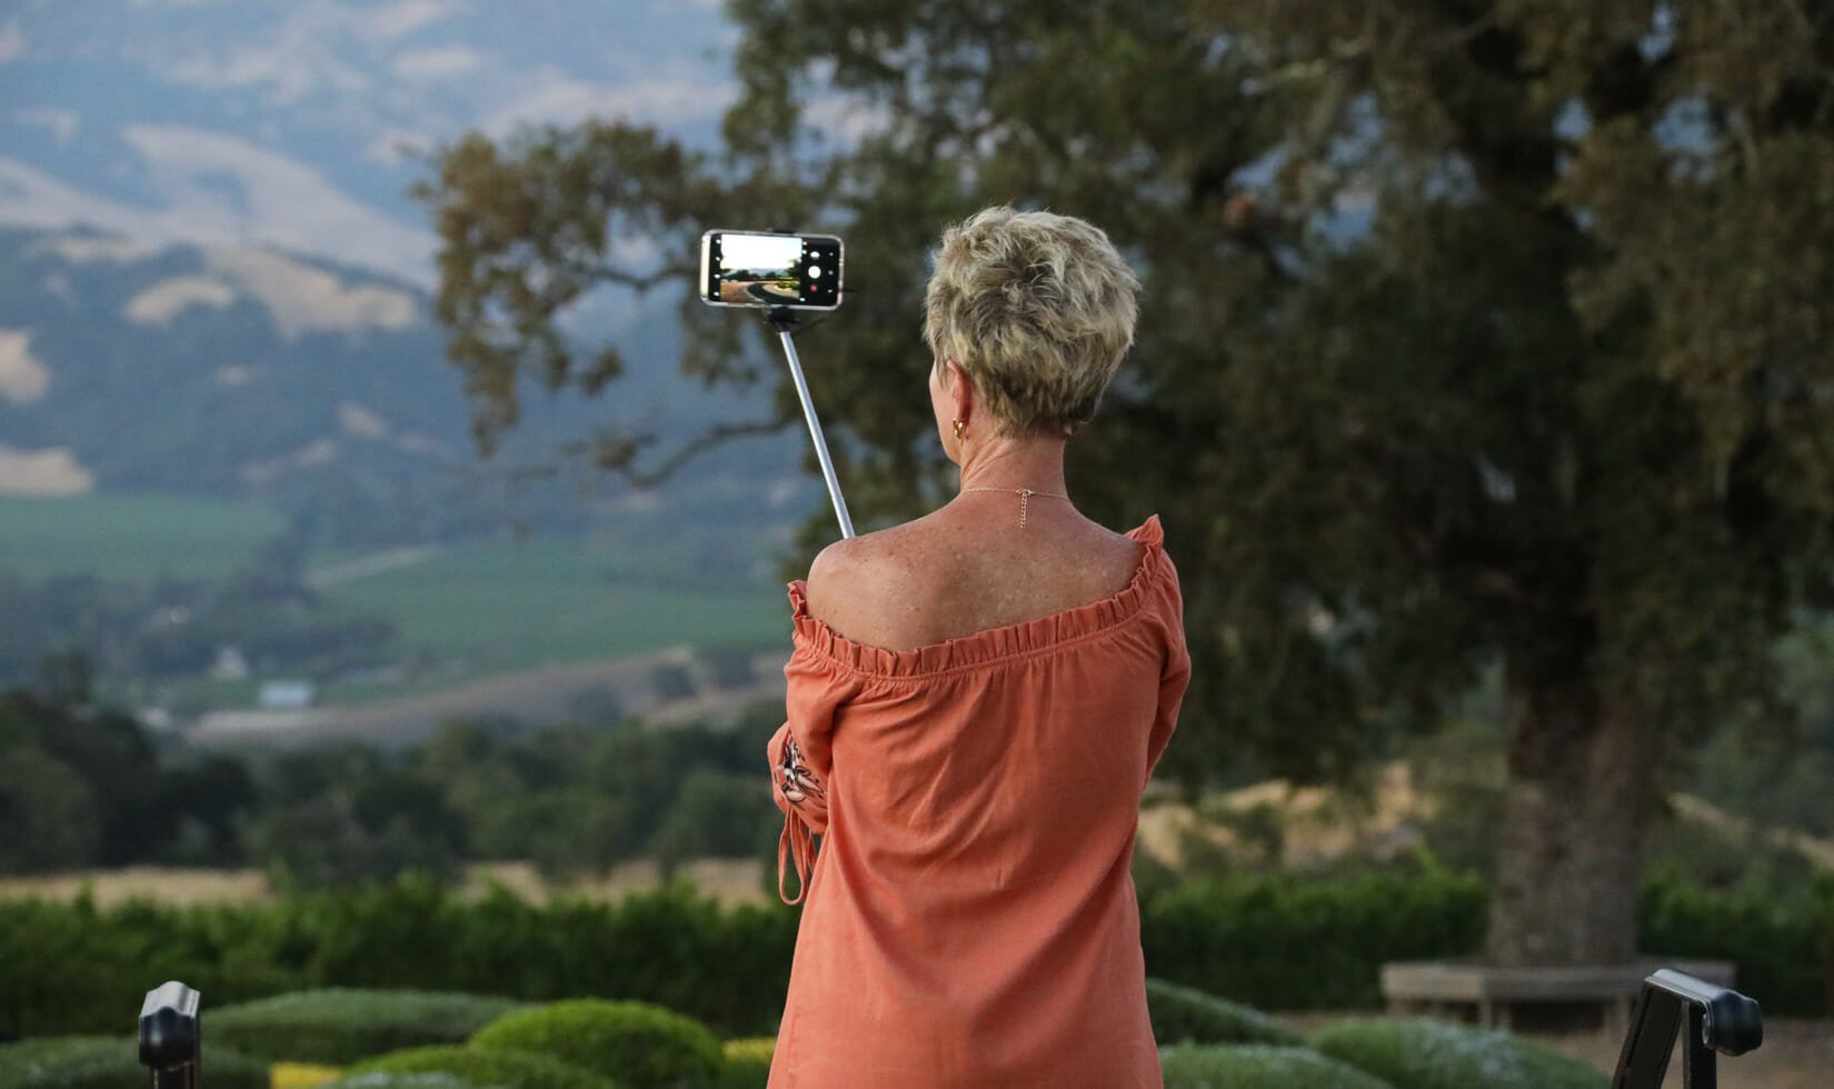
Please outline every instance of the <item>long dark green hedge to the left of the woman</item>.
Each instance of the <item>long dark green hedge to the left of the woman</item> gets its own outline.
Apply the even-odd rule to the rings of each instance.
[[[0,902],[0,1040],[116,1028],[123,979],[183,979],[207,1008],[323,986],[616,994],[774,1032],[794,942],[787,908],[684,886],[616,904],[464,900],[425,880],[246,906]]]

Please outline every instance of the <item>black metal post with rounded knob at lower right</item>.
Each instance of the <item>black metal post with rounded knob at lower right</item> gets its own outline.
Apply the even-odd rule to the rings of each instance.
[[[1673,968],[1643,979],[1612,1089],[1662,1089],[1674,1040],[1682,1040],[1682,1085],[1717,1089],[1715,1052],[1740,1056],[1764,1043],[1757,1001]]]

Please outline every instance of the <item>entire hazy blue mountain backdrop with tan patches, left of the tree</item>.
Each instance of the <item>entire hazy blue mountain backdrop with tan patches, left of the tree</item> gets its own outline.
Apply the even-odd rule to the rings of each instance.
[[[407,196],[427,148],[585,116],[710,141],[730,38],[712,2],[0,4],[0,493],[460,488]],[[537,398],[506,464],[603,420],[756,414],[677,383],[671,310],[583,315],[633,378]],[[767,446],[723,471],[800,473],[794,436]]]

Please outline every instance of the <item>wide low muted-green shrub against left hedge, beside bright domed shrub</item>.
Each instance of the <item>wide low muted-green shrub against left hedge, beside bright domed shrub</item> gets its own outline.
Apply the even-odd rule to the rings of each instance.
[[[205,1038],[246,1054],[347,1067],[403,1047],[464,1043],[525,1008],[501,997],[429,990],[299,990],[211,1010]],[[213,1071],[215,1080],[215,1071]]]

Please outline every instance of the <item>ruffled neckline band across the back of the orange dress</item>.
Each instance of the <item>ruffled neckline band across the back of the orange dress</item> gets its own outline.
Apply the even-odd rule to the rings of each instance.
[[[1133,568],[1133,578],[1108,598],[1089,601],[1088,605],[1075,605],[1036,620],[990,627],[910,651],[891,651],[853,642],[831,629],[827,622],[809,616],[809,585],[805,579],[796,579],[789,585],[790,623],[796,627],[796,645],[855,673],[924,676],[983,667],[1009,658],[1025,658],[1066,644],[1082,642],[1088,636],[1132,620],[1146,605],[1152,583],[1161,568],[1159,559],[1165,552],[1165,530],[1159,524],[1159,515],[1152,515],[1128,530],[1126,537],[1141,543],[1144,548],[1139,565]]]

